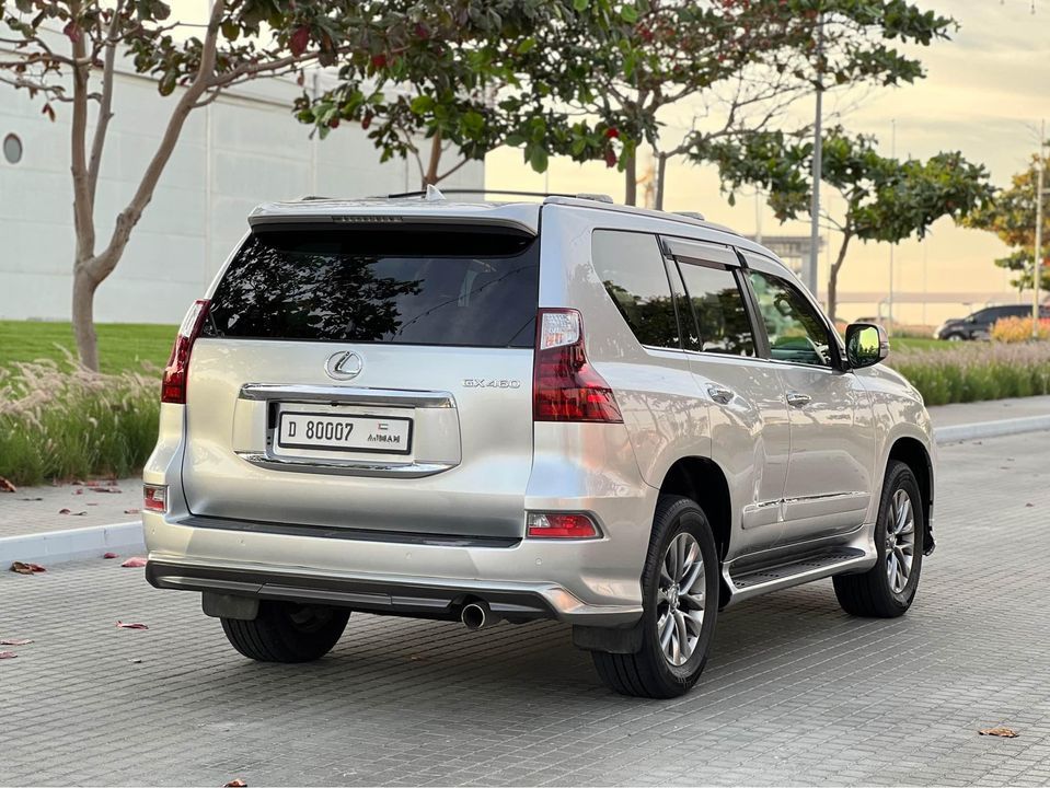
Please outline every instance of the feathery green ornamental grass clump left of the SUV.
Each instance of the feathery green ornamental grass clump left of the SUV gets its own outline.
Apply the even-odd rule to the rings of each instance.
[[[14,484],[126,476],[160,414],[155,373],[99,374],[45,360],[0,368],[0,476]]]

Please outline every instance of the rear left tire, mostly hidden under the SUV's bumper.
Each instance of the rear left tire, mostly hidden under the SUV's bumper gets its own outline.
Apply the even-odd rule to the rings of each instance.
[[[230,645],[259,662],[312,662],[338,642],[348,610],[291,602],[261,602],[254,621],[222,618]]]

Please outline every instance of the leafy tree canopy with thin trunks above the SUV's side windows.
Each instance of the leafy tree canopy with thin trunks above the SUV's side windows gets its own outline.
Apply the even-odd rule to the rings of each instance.
[[[921,78],[897,46],[926,46],[953,27],[905,0],[638,0],[597,40],[586,18],[550,27],[524,68],[554,100],[648,143],[662,173],[668,159],[704,161],[719,140],[774,127],[815,88]],[[695,113],[688,131],[666,125],[671,107]],[[619,164],[634,204],[633,147]]]

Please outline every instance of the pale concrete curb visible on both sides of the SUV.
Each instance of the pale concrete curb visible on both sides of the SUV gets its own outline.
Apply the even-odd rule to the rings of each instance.
[[[937,427],[933,434],[938,444],[944,444],[1041,430],[1050,430],[1050,415]],[[60,564],[80,558],[101,558],[107,552],[128,555],[145,549],[142,523],[136,520],[115,525],[7,536],[0,538],[0,565],[10,565],[14,560]]]

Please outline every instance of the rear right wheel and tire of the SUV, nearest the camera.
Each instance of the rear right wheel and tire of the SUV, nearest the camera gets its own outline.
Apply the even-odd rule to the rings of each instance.
[[[685,560],[677,565],[680,570],[674,568],[672,547],[685,552]],[[680,592],[682,587],[671,582],[671,575],[678,575],[673,580],[684,579],[692,593]],[[661,587],[670,594],[661,591]],[[707,663],[718,616],[715,538],[704,511],[689,498],[660,496],[642,573],[642,649],[627,654],[592,651],[595,668],[605,685],[621,695],[648,698],[684,695]],[[672,610],[679,615],[671,613]],[[661,630],[670,653],[665,653]],[[686,647],[676,652],[676,644],[682,642],[682,631]]]

